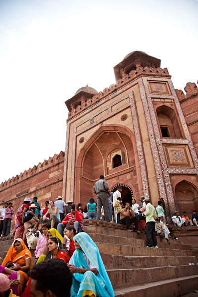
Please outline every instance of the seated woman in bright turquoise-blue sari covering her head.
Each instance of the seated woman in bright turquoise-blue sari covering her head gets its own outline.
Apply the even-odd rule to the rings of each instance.
[[[72,273],[71,297],[114,297],[99,249],[91,237],[80,232],[73,240],[76,250],[68,264]]]

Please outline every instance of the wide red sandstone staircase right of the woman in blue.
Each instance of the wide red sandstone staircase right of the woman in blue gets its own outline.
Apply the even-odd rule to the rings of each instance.
[[[172,239],[168,244],[158,236],[159,248],[148,248],[144,231],[99,220],[85,220],[84,226],[99,248],[116,297],[179,297],[198,290],[198,247]],[[0,239],[2,258],[12,242],[12,236]]]

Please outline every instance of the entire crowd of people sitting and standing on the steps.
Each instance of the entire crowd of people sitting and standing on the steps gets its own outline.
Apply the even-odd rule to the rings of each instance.
[[[113,297],[113,288],[106,273],[99,250],[91,237],[84,232],[84,220],[102,219],[123,224],[127,230],[140,233],[139,226],[146,226],[148,244],[157,246],[157,236],[175,238],[168,229],[168,219],[163,197],[158,206],[149,198],[135,199],[131,204],[122,202],[122,187],[114,192],[104,176],[95,183],[97,203],[90,198],[86,206],[67,204],[61,196],[56,201],[45,201],[41,209],[37,196],[25,198],[15,215],[14,241],[0,265],[0,294],[2,296],[64,296],[71,297]],[[0,236],[10,233],[12,203],[5,203],[0,210]],[[198,215],[193,210],[192,220],[184,211],[182,217],[175,211],[171,218],[174,226],[198,226]],[[40,226],[40,228],[39,228]],[[27,247],[29,228],[38,231],[34,261]],[[176,238],[175,238],[176,239]],[[0,259],[1,262],[1,259]],[[55,279],[54,279],[55,278]],[[38,295],[39,292],[43,295]],[[47,292],[49,292],[47,294]]]

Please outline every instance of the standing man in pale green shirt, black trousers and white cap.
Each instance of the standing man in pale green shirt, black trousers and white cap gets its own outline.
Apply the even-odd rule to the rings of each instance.
[[[157,217],[156,210],[152,204],[150,204],[150,199],[145,198],[146,203],[145,217],[146,217],[146,235],[148,239],[148,245],[146,247],[157,247],[157,238],[155,233],[155,218]]]

